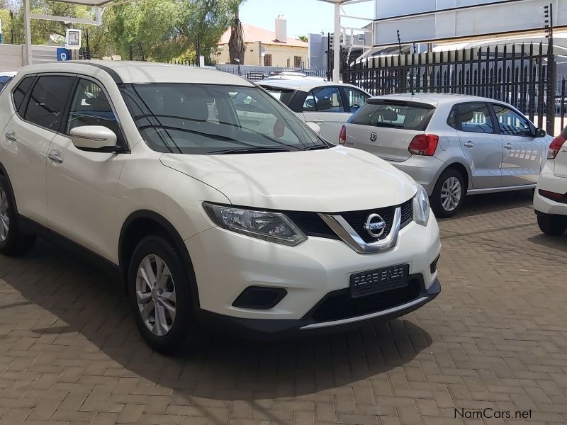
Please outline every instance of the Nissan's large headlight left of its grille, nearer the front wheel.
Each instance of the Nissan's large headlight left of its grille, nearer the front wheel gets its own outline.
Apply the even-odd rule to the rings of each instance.
[[[245,210],[208,202],[203,207],[220,227],[268,242],[296,246],[307,236],[281,212]]]

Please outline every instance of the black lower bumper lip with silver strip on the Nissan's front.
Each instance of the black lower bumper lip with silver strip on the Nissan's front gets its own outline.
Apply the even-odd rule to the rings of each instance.
[[[428,288],[425,288],[420,275],[410,276],[410,281],[413,281],[413,283],[417,285],[415,288],[415,297],[374,312],[366,312],[365,314],[343,314],[344,317],[339,316],[336,319],[325,319],[325,312],[321,312],[321,310],[325,308],[326,304],[329,304],[329,300],[333,298],[339,300],[342,297],[346,299],[346,297],[349,296],[347,290],[336,290],[325,295],[325,297],[301,319],[245,319],[201,310],[198,312],[198,320],[203,327],[210,330],[261,341],[287,339],[313,334],[327,334],[403,316],[427,304],[427,302],[430,302],[441,293],[441,284],[437,279],[435,279]],[[387,296],[389,296],[387,293],[374,295],[376,299],[378,299],[378,297]],[[364,300],[364,298],[367,299]],[[368,297],[359,299],[359,302],[368,301]],[[354,300],[354,302],[358,301]],[[331,307],[332,303],[329,305]]]

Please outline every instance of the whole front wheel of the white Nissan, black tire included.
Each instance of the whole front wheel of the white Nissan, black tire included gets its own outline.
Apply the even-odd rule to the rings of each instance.
[[[147,270],[151,268],[154,276],[159,278],[159,261],[164,264],[164,280],[153,285],[155,290],[152,290],[146,282],[155,283],[157,279]],[[196,320],[189,285],[184,262],[169,238],[154,234],[137,244],[128,268],[128,300],[137,328],[155,351],[172,353],[189,334],[194,333]]]

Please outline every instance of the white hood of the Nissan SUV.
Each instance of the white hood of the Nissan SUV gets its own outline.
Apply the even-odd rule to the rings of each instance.
[[[235,155],[163,154],[162,164],[222,192],[233,205],[313,212],[369,210],[412,198],[412,179],[347,147]]]

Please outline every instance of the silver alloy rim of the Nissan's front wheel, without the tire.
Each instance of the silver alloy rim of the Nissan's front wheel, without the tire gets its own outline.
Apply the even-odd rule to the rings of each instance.
[[[159,256],[145,256],[138,266],[136,299],[147,329],[156,336],[167,335],[175,322],[175,284],[169,267]]]

